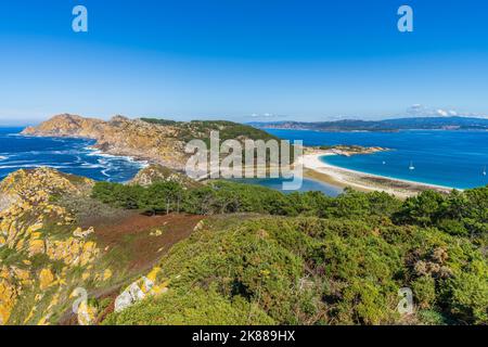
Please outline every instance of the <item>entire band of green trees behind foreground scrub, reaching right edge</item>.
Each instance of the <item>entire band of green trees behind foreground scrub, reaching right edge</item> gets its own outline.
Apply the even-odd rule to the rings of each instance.
[[[99,182],[93,197],[103,203],[147,213],[216,215],[258,213],[320,218],[387,217],[398,224],[435,227],[452,235],[485,236],[488,230],[488,187],[445,195],[425,191],[400,202],[386,193],[346,190],[332,198],[320,192],[283,194],[259,185],[215,181],[185,189],[177,182],[147,188]]]

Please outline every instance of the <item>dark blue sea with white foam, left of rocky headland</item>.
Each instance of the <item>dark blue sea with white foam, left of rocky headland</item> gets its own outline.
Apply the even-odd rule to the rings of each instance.
[[[20,128],[0,128],[0,180],[21,168],[48,166],[99,181],[125,182],[146,165],[102,154],[92,140],[20,136]]]

